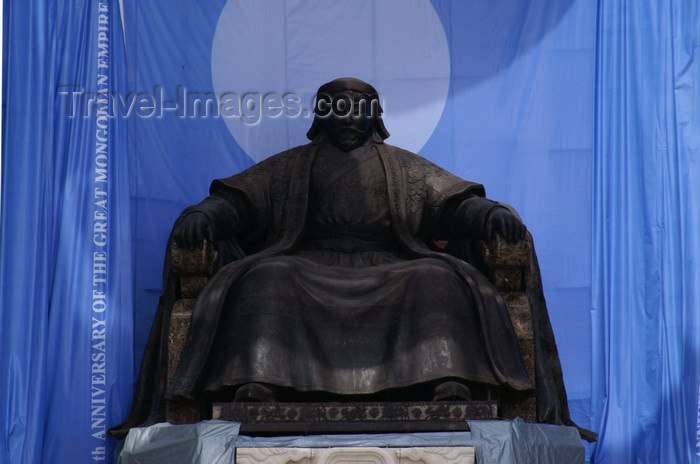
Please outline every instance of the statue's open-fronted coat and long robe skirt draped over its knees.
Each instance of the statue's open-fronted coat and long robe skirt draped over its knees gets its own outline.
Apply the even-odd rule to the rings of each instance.
[[[249,211],[262,213],[255,218],[262,223],[258,226],[279,234],[261,253],[221,269],[203,290],[169,395],[191,398],[200,382],[208,391],[266,382],[362,394],[445,377],[532,389],[498,292],[467,263],[425,245],[445,202],[455,196],[476,198],[483,187],[417,155],[370,142],[354,151],[369,155],[355,169],[372,162],[376,168],[356,178],[353,198],[343,195],[350,187],[333,208],[327,203],[330,192],[313,194],[314,187],[336,175],[336,186],[343,184],[342,165],[335,168],[340,175],[331,167],[313,176],[314,160],[333,158],[319,155],[334,149],[328,145],[283,153],[253,172],[214,185],[214,196],[219,189],[236,192]],[[351,162],[352,154],[337,157],[342,155]],[[262,173],[255,172],[258,167]],[[380,179],[372,182],[369,178],[378,172]],[[475,208],[474,222],[483,223],[496,205],[486,201],[486,207]],[[325,224],[309,222],[319,216],[309,211],[314,202],[325,206]],[[212,211],[221,211],[220,204],[204,203],[195,210],[217,221],[221,213]],[[352,211],[353,204],[360,208]],[[358,215],[369,223],[358,223]],[[387,226],[385,249],[376,241],[381,236],[357,244],[357,234],[342,229],[381,229],[382,223]],[[331,236],[338,237],[339,246],[354,243],[357,251],[329,250],[327,243],[320,245],[323,250],[306,249],[318,242],[309,234],[322,226],[336,230]],[[368,251],[376,243],[378,248]],[[394,339],[387,340],[390,336]]]

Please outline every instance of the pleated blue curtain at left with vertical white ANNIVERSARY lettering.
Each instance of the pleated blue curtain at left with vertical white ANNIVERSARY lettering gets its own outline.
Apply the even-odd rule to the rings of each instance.
[[[109,460],[133,369],[118,2],[4,8],[0,462]]]

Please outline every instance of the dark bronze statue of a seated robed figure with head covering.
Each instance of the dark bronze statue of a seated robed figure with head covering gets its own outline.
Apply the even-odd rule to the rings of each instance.
[[[426,385],[451,381],[531,405],[533,419],[571,423],[531,237],[517,215],[486,199],[483,186],[384,143],[371,85],[338,79],[317,100],[310,144],[215,180],[176,222],[132,413],[111,433],[164,420],[166,404],[201,410],[250,383],[307,401],[395,389],[429,400]],[[503,257],[477,246],[489,239],[524,241]],[[178,251],[200,249],[194,258]],[[219,269],[209,279],[212,260]],[[176,272],[183,263],[197,273]],[[484,275],[489,266],[493,275]],[[527,304],[509,312],[489,278],[523,291],[510,299]],[[180,323],[175,301],[206,280],[189,325]],[[530,324],[529,335],[516,335],[512,317]],[[183,330],[184,347],[168,348]],[[177,369],[172,361],[168,369],[168,352]],[[536,415],[527,400],[535,386]]]

